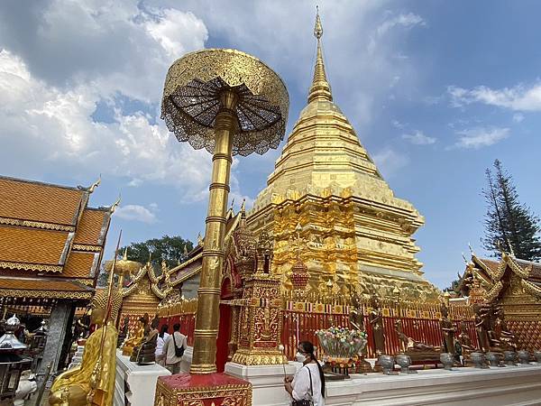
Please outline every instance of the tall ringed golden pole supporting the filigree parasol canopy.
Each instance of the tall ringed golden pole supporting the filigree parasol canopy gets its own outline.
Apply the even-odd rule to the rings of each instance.
[[[237,125],[234,106],[238,95],[228,88],[220,94],[221,108],[215,118],[215,151],[212,157],[212,180],[208,197],[203,267],[197,290],[197,318],[194,354],[190,373],[216,372],[216,338],[219,327],[220,283],[224,263],[225,214],[229,195],[233,133]]]

